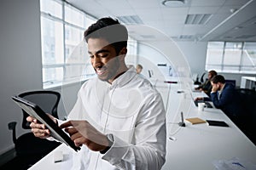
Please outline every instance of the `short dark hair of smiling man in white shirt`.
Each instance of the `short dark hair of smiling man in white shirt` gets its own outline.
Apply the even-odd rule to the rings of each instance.
[[[119,20],[110,17],[97,20],[84,31],[84,39],[88,42],[89,38],[104,38],[108,41],[118,54],[122,48],[127,47],[128,31]]]

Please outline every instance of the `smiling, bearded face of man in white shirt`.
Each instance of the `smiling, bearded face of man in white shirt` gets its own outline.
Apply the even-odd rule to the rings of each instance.
[[[113,82],[119,74],[119,57],[113,46],[102,38],[89,38],[88,53],[90,63],[102,81]]]

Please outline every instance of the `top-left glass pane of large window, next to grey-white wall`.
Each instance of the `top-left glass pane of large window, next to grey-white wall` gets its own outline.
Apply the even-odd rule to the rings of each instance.
[[[61,2],[52,0],[41,0],[40,9],[42,12],[51,14],[52,16],[62,19]]]

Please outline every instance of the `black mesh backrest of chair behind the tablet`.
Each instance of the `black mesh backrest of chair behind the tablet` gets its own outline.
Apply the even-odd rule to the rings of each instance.
[[[49,113],[52,116],[58,118],[57,108],[61,99],[61,94],[55,91],[31,91],[18,95],[20,98],[27,99],[32,103],[37,104],[44,112]],[[23,111],[23,110],[22,110]],[[28,114],[23,111],[22,127],[25,129],[31,128],[29,122],[26,121]]]

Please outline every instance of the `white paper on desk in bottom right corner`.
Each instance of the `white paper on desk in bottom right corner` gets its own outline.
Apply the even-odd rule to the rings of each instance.
[[[255,170],[256,165],[250,161],[241,160],[237,157],[231,160],[212,161],[218,170]]]

